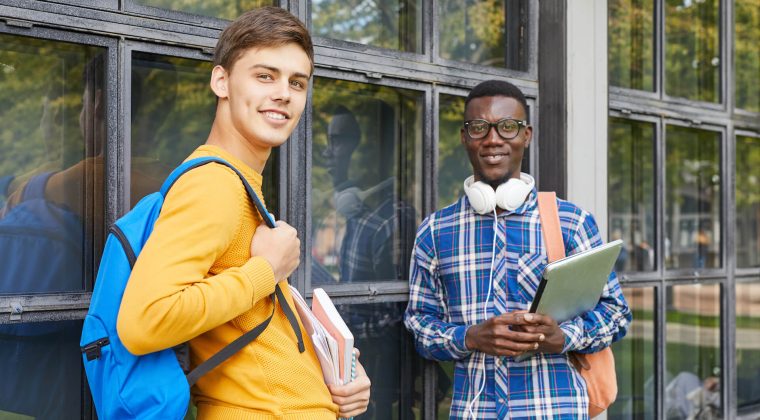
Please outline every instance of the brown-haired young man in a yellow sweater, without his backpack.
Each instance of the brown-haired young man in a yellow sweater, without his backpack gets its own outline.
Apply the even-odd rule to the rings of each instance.
[[[261,197],[273,147],[295,129],[313,70],[309,33],[276,7],[252,10],[219,38],[211,74],[218,98],[206,144],[188,159],[231,163]],[[300,352],[275,285],[291,307],[288,276],[299,264],[296,230],[266,227],[237,174],[208,164],[186,173],[161,215],[124,292],[118,331],[135,354],[189,341],[191,365],[273,315],[264,332],[192,389],[198,419],[335,419],[366,410],[369,379],[327,387],[314,349]],[[301,327],[301,330],[303,328]],[[301,331],[302,335],[307,335]]]

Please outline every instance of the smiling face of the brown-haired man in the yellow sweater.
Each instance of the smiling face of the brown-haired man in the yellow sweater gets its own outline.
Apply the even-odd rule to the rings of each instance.
[[[226,135],[258,150],[285,143],[306,106],[310,75],[311,61],[294,43],[249,49],[230,70],[216,66],[211,88]]]

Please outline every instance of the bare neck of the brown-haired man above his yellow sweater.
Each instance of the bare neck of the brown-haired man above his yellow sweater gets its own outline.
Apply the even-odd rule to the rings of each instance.
[[[261,174],[272,153],[271,147],[260,147],[251,144],[243,135],[235,130],[229,118],[225,118],[222,107],[217,108],[214,124],[206,139],[206,144],[217,146],[236,158],[240,159],[254,171]]]

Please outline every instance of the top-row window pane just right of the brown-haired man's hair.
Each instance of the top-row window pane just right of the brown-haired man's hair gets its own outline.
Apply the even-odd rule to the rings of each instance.
[[[312,35],[422,52],[421,0],[314,0]]]

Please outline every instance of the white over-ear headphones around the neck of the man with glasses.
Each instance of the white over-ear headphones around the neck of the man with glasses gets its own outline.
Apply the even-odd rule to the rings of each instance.
[[[525,202],[535,183],[532,176],[520,173],[520,179],[510,178],[494,191],[485,182],[475,182],[475,178],[470,175],[464,180],[464,192],[472,208],[479,214],[491,213],[496,206],[514,211]]]

